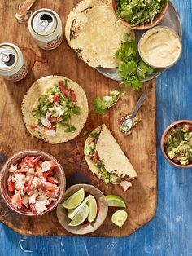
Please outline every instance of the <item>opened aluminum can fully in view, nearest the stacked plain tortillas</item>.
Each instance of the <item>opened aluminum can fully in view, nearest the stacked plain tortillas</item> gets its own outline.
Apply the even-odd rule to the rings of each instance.
[[[63,40],[61,19],[50,9],[35,11],[28,20],[28,29],[37,45],[44,50],[55,49]]]

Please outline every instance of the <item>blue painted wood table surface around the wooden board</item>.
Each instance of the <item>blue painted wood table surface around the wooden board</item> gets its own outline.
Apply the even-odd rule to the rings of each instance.
[[[174,0],[183,24],[183,55],[157,79],[158,204],[155,218],[129,237],[26,237],[0,224],[0,255],[192,255],[192,170],[170,166],[159,148],[168,124],[192,120],[192,0]]]

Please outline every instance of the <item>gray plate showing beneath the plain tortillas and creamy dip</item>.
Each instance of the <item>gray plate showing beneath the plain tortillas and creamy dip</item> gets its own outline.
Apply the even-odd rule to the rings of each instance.
[[[167,26],[175,30],[180,38],[182,38],[182,25],[181,20],[177,12],[177,8],[174,6],[172,1],[169,1],[168,11],[164,16],[164,19],[158,24],[159,26]],[[145,33],[146,30],[136,31],[136,40],[137,42],[142,37],[142,34]],[[122,82],[122,79],[118,76],[118,68],[96,68],[99,73],[103,74],[104,77],[111,78],[112,80]],[[152,78],[158,77],[161,73],[163,73],[166,69],[156,69],[156,72],[151,76],[142,80],[142,82],[151,80]]]

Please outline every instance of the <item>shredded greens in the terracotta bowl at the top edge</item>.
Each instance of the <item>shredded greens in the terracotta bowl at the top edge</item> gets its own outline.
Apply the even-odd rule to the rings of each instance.
[[[116,0],[116,14],[133,26],[153,22],[168,0]]]

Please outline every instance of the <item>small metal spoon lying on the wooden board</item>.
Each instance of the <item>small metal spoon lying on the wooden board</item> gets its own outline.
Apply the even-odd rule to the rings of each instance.
[[[123,130],[124,132],[127,132],[129,130],[131,130],[132,126],[133,126],[133,118],[136,116],[139,108],[142,107],[142,104],[144,102],[144,100],[146,99],[146,94],[143,93],[141,95],[141,97],[139,98],[137,105],[135,106],[133,113],[130,114],[129,118],[124,120],[122,126],[120,127],[121,130]]]

